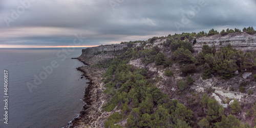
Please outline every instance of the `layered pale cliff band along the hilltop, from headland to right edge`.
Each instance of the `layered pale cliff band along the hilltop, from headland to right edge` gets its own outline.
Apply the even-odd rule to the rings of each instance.
[[[256,34],[247,34],[247,33],[230,33],[226,36],[221,36],[220,34],[214,36],[205,36],[196,38],[197,43],[194,44],[194,49],[200,51],[203,47],[203,44],[208,44],[209,46],[215,45],[217,50],[220,47],[225,47],[229,43],[232,47],[236,49],[243,50],[246,52],[247,50],[256,49]],[[153,45],[160,45],[166,41],[166,39],[156,40]],[[136,43],[133,46],[138,46]],[[148,44],[147,44],[148,45]],[[82,49],[82,58],[88,58],[88,55],[95,55],[98,52],[108,52],[114,50],[121,50],[124,47],[127,47],[127,44],[112,44],[112,45],[100,45],[96,47],[89,47],[86,49]],[[87,56],[86,56],[87,55]]]

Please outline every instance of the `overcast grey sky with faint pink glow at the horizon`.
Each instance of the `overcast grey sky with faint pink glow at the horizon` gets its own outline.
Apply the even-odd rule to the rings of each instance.
[[[88,47],[256,29],[256,0],[0,0],[0,48]]]

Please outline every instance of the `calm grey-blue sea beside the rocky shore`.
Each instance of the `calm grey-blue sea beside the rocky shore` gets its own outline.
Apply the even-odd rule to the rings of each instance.
[[[65,48],[0,49],[0,127],[62,127],[77,117],[88,82],[76,70],[83,64],[71,59],[80,55],[81,48],[72,52]],[[58,67],[51,70],[51,63]],[[8,124],[4,123],[4,70],[9,74]],[[35,80],[37,76],[41,82]],[[30,92],[28,83],[37,88],[31,86]]]

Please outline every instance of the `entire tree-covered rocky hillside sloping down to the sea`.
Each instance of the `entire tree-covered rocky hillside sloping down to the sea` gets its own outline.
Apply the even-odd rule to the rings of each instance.
[[[184,35],[83,49],[72,127],[255,126],[256,34]]]

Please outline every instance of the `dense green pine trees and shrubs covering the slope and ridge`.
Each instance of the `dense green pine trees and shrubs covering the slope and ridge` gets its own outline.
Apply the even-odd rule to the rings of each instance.
[[[243,31],[254,33],[252,27]],[[241,31],[228,29],[226,32],[222,31],[221,35],[234,32]],[[195,101],[186,107],[178,100],[171,100],[154,85],[157,81],[153,78],[154,72],[127,65],[130,60],[141,58],[141,62],[145,65],[155,63],[156,66],[166,68],[165,75],[172,77],[174,72],[167,67],[178,63],[186,80],[178,81],[177,95],[187,93],[189,86],[194,82],[190,75],[197,72],[197,67],[203,67],[203,79],[208,79],[211,75],[230,79],[237,70],[241,72],[256,69],[256,50],[243,53],[228,45],[217,52],[214,45],[205,44],[199,54],[193,55],[192,45],[196,43],[195,37],[215,34],[219,32],[212,29],[208,34],[202,31],[198,34],[182,33],[167,37],[153,37],[147,41],[122,42],[127,43],[128,47],[116,52],[117,56],[111,62],[101,65],[101,67],[108,67],[103,74],[106,87],[103,93],[112,96],[110,101],[103,105],[103,111],[121,110],[112,114],[104,122],[105,127],[122,127],[116,123],[124,119],[127,120],[126,127],[250,127],[248,123],[242,124],[235,116],[241,111],[237,100],[234,100],[233,105],[230,106],[232,108],[230,115],[225,115],[224,108],[206,93],[202,97],[199,94],[193,94]],[[158,39],[166,39],[161,44],[164,49],[162,52],[158,46],[152,45]],[[140,45],[133,47],[134,43],[140,43]],[[165,50],[171,50],[172,56],[168,58],[164,54]],[[197,106],[197,109],[202,112],[195,114],[192,111],[193,106]],[[252,110],[255,116],[256,103]]]

